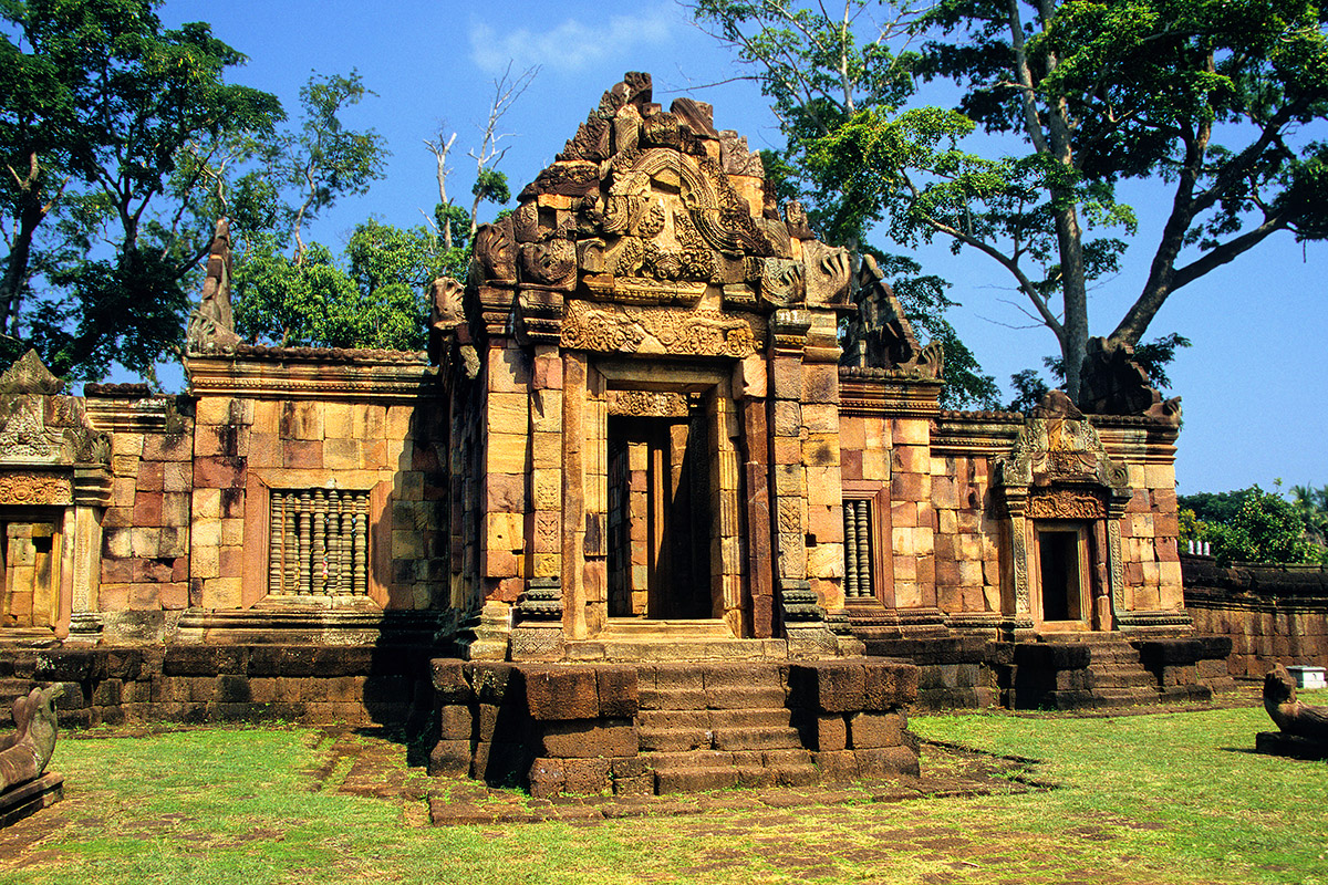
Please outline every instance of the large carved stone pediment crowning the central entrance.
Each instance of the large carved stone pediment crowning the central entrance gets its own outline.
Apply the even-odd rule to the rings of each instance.
[[[612,341],[615,350],[657,336],[608,305],[691,309],[697,337],[728,324],[724,345],[684,348],[725,354],[748,350],[733,338],[750,330],[746,314],[851,309],[849,252],[817,241],[799,206],[781,216],[746,141],[716,130],[709,105],[679,98],[664,111],[651,97],[641,73],[604,93],[517,210],[478,230],[469,288],[556,289],[568,305],[606,305],[618,317],[611,328],[559,337],[596,349]],[[513,329],[518,340],[548,341],[572,320],[558,299],[518,295],[510,304],[511,322],[479,317],[490,334]]]

